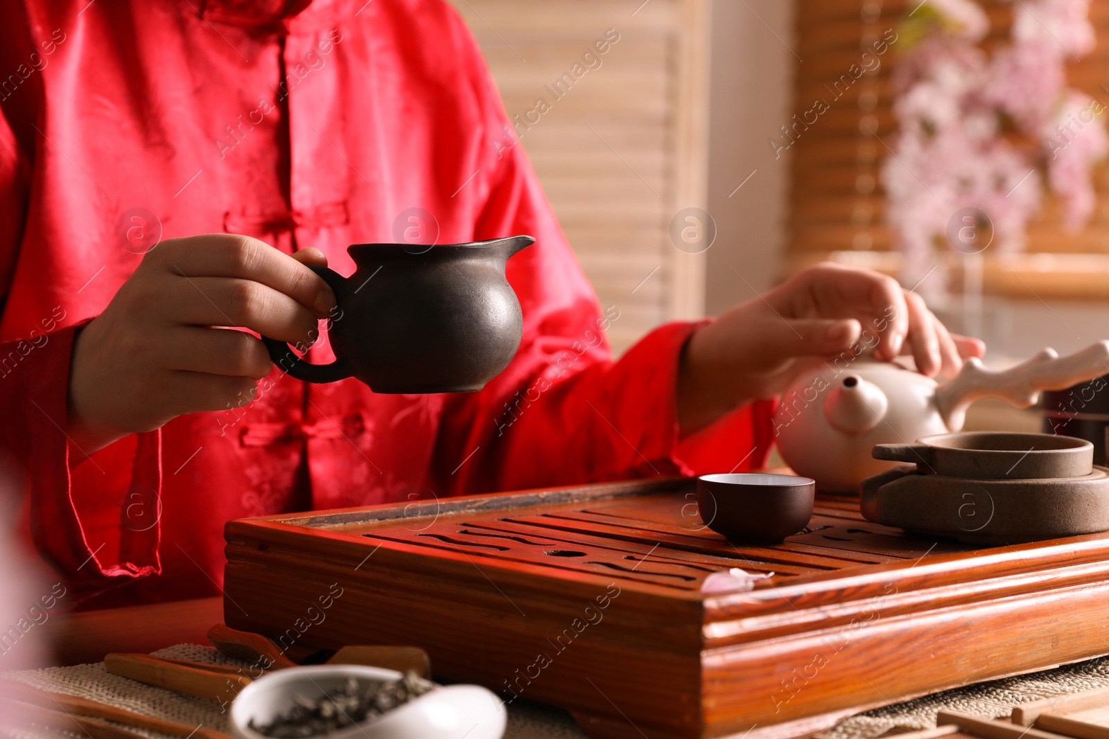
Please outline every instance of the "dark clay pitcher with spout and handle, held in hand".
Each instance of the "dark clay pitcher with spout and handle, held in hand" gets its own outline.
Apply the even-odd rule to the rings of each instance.
[[[327,321],[336,360],[313,365],[284,341],[262,340],[277,367],[307,382],[355,377],[374,392],[480,390],[520,346],[523,317],[505,264],[535,240],[441,244],[419,254],[406,244],[355,244],[350,277],[308,265],[338,302]]]

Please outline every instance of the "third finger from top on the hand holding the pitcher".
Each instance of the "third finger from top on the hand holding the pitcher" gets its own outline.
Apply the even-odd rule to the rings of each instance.
[[[164,337],[165,367],[261,380],[273,368],[261,340],[245,331],[179,326]]]

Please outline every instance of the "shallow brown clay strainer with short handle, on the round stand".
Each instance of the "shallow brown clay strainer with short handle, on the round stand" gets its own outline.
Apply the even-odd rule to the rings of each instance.
[[[1093,470],[1093,444],[1047,433],[942,433],[915,444],[877,444],[874,456],[915,463],[926,474],[973,480],[1081,478]]]

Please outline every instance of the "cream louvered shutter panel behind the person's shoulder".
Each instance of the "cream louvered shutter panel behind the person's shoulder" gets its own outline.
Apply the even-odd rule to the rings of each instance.
[[[709,0],[455,4],[601,305],[619,311],[613,348],[700,317],[704,255],[670,229],[705,207]]]

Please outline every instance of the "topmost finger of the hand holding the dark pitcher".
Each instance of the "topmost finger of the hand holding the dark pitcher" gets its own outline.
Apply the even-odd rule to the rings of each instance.
[[[150,258],[159,260],[172,275],[193,279],[230,277],[260,283],[312,309],[321,318],[335,308],[332,289],[301,264],[321,264],[318,258],[323,255],[316,249],[305,249],[301,253],[303,256],[291,258],[265,242],[232,234],[167,239],[159,247],[150,252]]]

